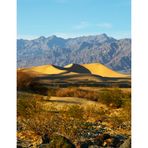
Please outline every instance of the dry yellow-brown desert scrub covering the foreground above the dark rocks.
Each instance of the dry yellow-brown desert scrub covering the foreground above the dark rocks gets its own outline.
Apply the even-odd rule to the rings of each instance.
[[[100,133],[130,136],[130,93],[123,93],[120,89],[97,92],[73,87],[50,90],[48,96],[18,93],[19,140],[23,141],[20,133],[30,131],[32,139],[39,137],[35,146],[49,142],[54,135],[62,135],[78,147],[90,139],[95,143],[95,137]],[[76,97],[80,103],[68,103],[65,99],[64,105],[59,107],[56,104],[61,102],[52,100],[52,95],[57,98]],[[81,99],[86,102],[82,103]],[[87,104],[87,101],[94,104]],[[103,140],[100,146],[105,143],[106,146],[111,144]]]

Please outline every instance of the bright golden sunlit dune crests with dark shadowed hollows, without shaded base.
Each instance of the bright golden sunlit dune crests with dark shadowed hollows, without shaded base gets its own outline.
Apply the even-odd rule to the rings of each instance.
[[[55,65],[42,65],[35,66],[31,68],[21,69],[24,72],[31,72],[40,75],[44,74],[94,74],[101,77],[128,77],[128,75],[121,74],[119,72],[113,71],[110,68],[100,64],[100,63],[91,63],[91,64],[69,64],[65,67],[59,67]]]

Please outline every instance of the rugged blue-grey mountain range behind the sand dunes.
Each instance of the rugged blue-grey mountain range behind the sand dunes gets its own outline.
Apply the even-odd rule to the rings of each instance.
[[[117,40],[101,34],[69,39],[41,36],[34,40],[17,40],[18,68],[97,62],[113,70],[130,73],[131,39]]]

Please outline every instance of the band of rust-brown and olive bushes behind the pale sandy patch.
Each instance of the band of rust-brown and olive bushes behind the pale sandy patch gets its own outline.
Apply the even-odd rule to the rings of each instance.
[[[79,97],[86,98],[91,101],[98,101],[114,108],[121,108],[130,103],[131,95],[129,92],[123,92],[118,88],[112,90],[105,89],[104,91],[88,91],[78,88],[63,88],[56,91],[56,96],[59,97]]]

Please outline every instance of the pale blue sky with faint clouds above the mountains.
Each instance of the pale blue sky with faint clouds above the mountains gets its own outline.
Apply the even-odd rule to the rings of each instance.
[[[130,0],[17,0],[18,38],[131,37]]]

